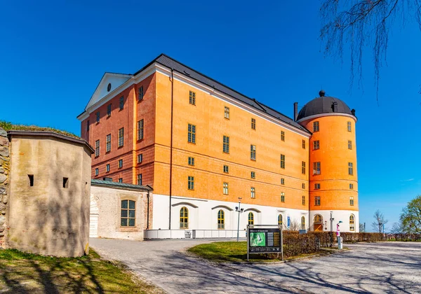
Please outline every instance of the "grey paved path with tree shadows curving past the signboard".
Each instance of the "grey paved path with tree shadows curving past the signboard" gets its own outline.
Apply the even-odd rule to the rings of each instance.
[[[421,242],[346,244],[352,250],[265,265],[217,265],[182,253],[205,242],[91,239],[91,246],[168,293],[421,293]]]

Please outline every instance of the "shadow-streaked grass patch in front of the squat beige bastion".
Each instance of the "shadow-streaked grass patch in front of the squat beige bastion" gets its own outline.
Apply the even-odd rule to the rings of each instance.
[[[0,250],[0,293],[163,293],[98,253],[54,258]]]

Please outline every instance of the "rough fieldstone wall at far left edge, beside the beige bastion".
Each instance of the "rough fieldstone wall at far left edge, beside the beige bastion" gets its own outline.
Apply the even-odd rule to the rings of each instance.
[[[0,127],[0,248],[4,248],[6,234],[6,209],[8,202],[8,177],[10,174],[9,141]]]

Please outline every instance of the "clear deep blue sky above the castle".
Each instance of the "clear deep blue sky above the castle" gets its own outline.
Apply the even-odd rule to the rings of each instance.
[[[0,119],[80,133],[76,116],[105,71],[134,73],[161,52],[293,116],[318,95],[356,109],[360,221],[398,220],[421,194],[421,32],[392,29],[375,99],[371,50],[363,89],[349,60],[323,57],[319,1],[1,1]]]

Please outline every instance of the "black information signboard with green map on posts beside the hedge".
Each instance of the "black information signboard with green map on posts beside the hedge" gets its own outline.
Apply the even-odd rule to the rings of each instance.
[[[247,261],[250,253],[281,253],[283,260],[282,226],[247,225]]]

